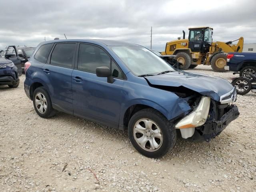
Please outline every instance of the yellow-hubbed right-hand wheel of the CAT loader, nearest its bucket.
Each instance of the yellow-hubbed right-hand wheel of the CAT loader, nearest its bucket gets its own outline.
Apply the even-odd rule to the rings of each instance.
[[[227,64],[227,55],[226,53],[218,53],[212,57],[211,66],[212,69],[216,72],[226,72],[224,66]]]

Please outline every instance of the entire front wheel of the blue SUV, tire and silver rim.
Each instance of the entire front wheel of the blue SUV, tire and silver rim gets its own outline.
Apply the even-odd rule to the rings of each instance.
[[[176,142],[176,130],[160,112],[147,108],[130,119],[128,135],[134,148],[149,158],[165,155]]]

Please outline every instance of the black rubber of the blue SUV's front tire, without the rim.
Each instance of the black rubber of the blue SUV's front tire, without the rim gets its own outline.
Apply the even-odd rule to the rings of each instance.
[[[148,151],[150,149],[145,150],[140,144],[137,143],[137,141],[134,138],[134,126],[141,119],[147,119],[147,120],[153,121],[154,123],[156,123],[156,125],[159,127],[161,131],[161,134],[162,134],[161,145],[159,146],[158,149],[156,148],[154,151]],[[152,129],[153,129],[153,126],[152,126]],[[140,152],[142,155],[147,156],[149,158],[159,158],[161,156],[164,156],[168,152],[168,150],[174,147],[174,144],[176,142],[176,129],[174,128],[174,125],[171,124],[160,112],[152,108],[140,110],[132,116],[128,125],[128,135],[134,148],[136,148],[136,150]],[[146,134],[141,134],[141,135],[146,136]],[[153,136],[152,136],[152,140],[153,139],[155,140]],[[149,141],[145,143],[145,146],[148,142]]]

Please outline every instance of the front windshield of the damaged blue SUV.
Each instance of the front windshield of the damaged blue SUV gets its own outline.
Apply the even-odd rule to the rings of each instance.
[[[111,49],[137,76],[175,71],[163,59],[142,46],[111,46]]]

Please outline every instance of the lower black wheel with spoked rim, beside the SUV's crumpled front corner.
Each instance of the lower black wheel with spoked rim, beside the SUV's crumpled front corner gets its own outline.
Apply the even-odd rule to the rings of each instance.
[[[232,85],[236,88],[236,92],[239,95],[245,95],[252,89],[252,83],[244,77],[237,78],[232,82]]]

